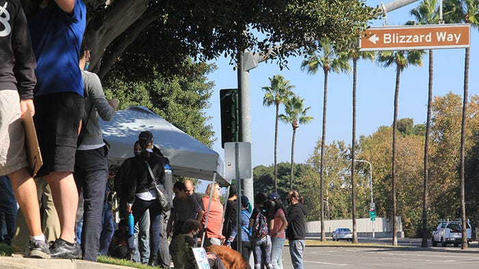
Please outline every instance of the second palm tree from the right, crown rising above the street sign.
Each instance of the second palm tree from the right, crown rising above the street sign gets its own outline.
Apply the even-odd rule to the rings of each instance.
[[[437,14],[437,0],[423,0],[417,8],[411,10],[411,15],[422,25],[432,25],[439,20]],[[424,140],[424,194],[422,197],[422,243],[428,247],[428,169],[429,169],[429,134],[432,102],[432,49],[429,50],[429,86],[428,86],[428,115],[426,119],[426,138]]]

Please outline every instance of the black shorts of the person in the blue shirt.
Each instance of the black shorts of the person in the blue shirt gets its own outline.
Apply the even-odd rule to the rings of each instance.
[[[85,100],[73,92],[60,92],[35,97],[34,102],[34,122],[43,160],[37,177],[75,171],[78,128]]]

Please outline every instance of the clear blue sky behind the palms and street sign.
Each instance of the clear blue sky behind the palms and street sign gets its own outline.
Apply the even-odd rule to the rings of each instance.
[[[389,1],[385,1],[388,3]],[[380,1],[367,1],[367,5],[376,6]],[[406,5],[388,14],[389,25],[404,25],[413,18],[409,11],[420,1]],[[372,26],[383,25],[383,20],[371,22]],[[463,93],[465,49],[442,49],[434,51],[435,96],[442,96],[449,91]],[[300,70],[302,57],[289,58],[289,70],[280,70],[276,63],[268,61],[250,71],[251,130],[253,167],[272,165],[274,163],[274,107],[263,107],[264,91],[261,87],[269,86],[269,77],[281,74],[295,85],[295,93],[305,98],[305,105],[311,107],[309,115],[315,117],[311,124],[300,126],[296,131],[295,162],[305,162],[313,152],[315,143],[322,134],[322,100],[324,75],[318,72],[309,75]],[[469,70],[469,96],[479,91],[479,33],[471,29],[471,55]],[[213,117],[213,125],[218,141],[213,150],[224,156],[221,147],[220,124],[220,89],[237,87],[237,72],[229,66],[229,59],[215,61],[218,70],[209,74],[214,81],[214,93],[211,108],[206,111]],[[394,67],[382,68],[376,63],[359,61],[357,85],[357,138],[371,135],[379,126],[391,125],[393,122],[393,99],[396,80]],[[428,57],[423,67],[409,67],[401,74],[398,100],[398,117],[411,117],[415,124],[426,121],[426,104],[428,97]],[[347,144],[352,140],[352,74],[332,74],[328,76],[328,107],[326,121],[326,143],[342,140]],[[282,111],[282,109],[281,109]],[[278,161],[289,162],[291,159],[292,127],[279,124]],[[224,158],[223,158],[224,159]]]

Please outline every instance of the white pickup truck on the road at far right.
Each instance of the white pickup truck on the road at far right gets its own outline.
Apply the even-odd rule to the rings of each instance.
[[[471,242],[471,225],[469,219],[466,221],[466,234],[467,244]],[[432,246],[437,246],[437,243],[441,243],[441,246],[447,246],[448,244],[454,244],[458,246],[463,242],[463,227],[461,218],[441,218],[439,225],[432,231]]]

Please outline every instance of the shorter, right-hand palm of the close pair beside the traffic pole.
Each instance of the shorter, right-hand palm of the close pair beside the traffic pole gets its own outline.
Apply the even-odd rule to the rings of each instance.
[[[293,190],[293,169],[294,169],[294,139],[296,138],[296,129],[299,124],[309,124],[314,118],[306,115],[311,107],[305,107],[305,99],[298,96],[292,96],[285,102],[285,114],[279,115],[282,122],[291,124],[293,127],[293,138],[291,142],[291,172],[289,174],[289,190]],[[299,123],[299,124],[298,124]]]

